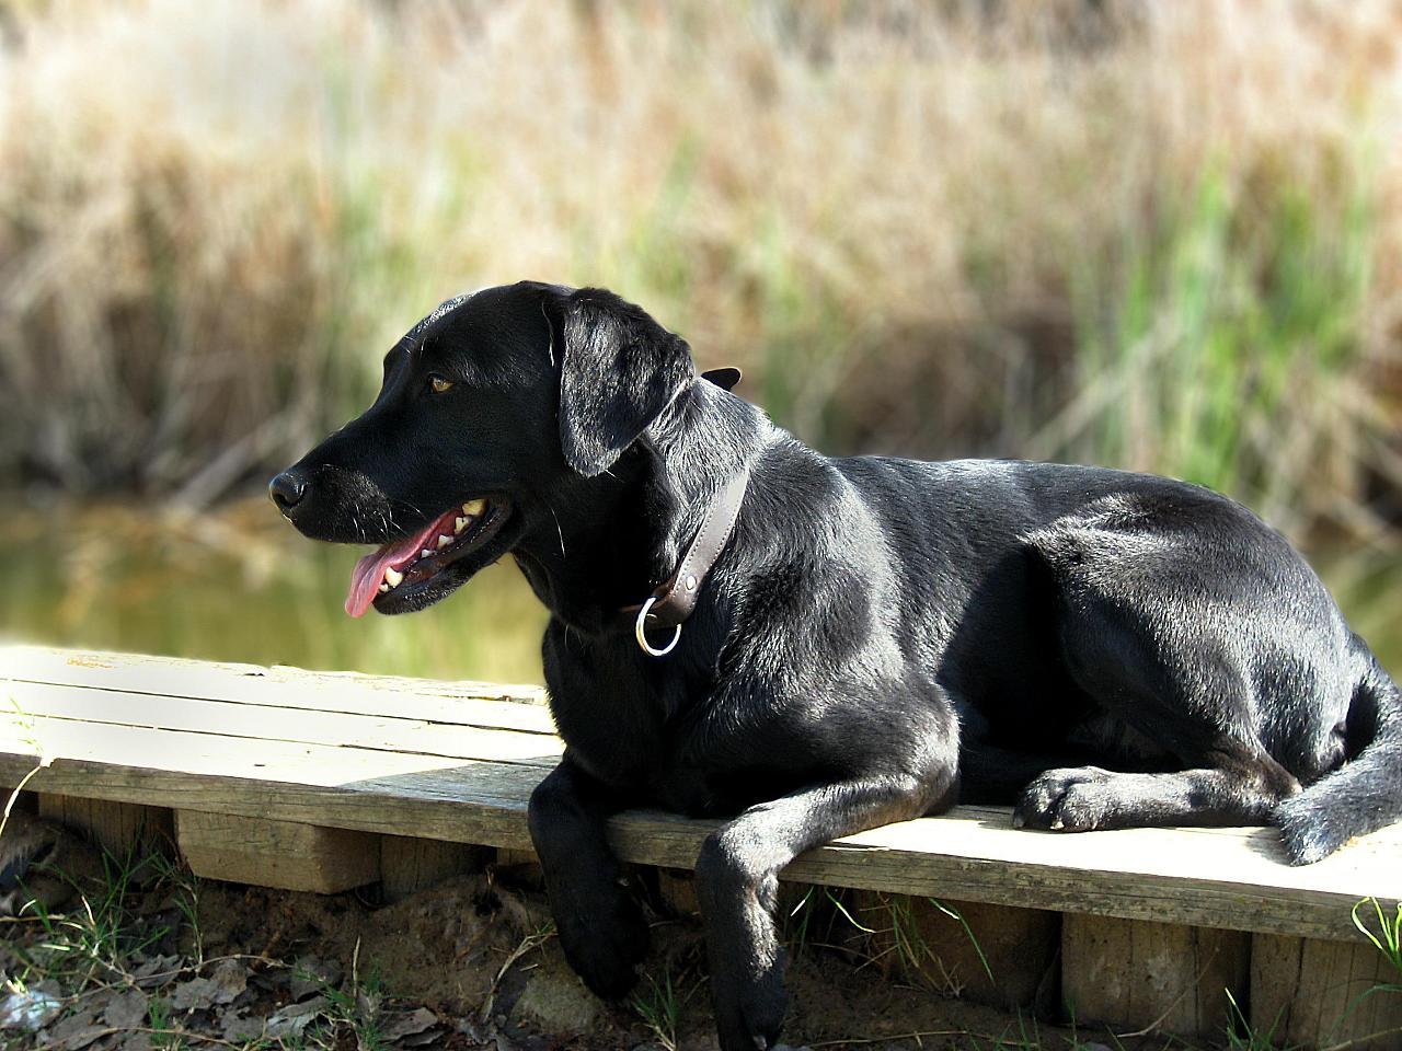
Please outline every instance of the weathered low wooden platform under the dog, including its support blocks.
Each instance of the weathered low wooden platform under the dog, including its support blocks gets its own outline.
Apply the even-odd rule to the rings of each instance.
[[[526,802],[559,753],[536,687],[0,647],[0,785],[39,768],[27,788],[43,811],[100,835],[165,823],[215,879],[412,888],[471,848],[530,851]],[[714,827],[632,811],[611,837],[628,862],[688,870]],[[1402,1047],[1402,994],[1349,1010],[1389,977],[1350,912],[1402,898],[1402,827],[1290,867],[1267,828],[1059,835],[959,807],[838,839],[784,876],[998,907],[981,908],[987,936],[1012,946],[1057,914],[1061,999],[1084,1020],[1220,1033],[1230,988],[1277,1038],[1396,1027],[1371,1045]]]

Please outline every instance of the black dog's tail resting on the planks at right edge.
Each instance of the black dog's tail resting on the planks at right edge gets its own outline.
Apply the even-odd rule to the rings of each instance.
[[[1359,743],[1357,754],[1276,807],[1291,865],[1316,862],[1354,835],[1402,821],[1402,689],[1357,635],[1353,654],[1360,677],[1347,739]]]

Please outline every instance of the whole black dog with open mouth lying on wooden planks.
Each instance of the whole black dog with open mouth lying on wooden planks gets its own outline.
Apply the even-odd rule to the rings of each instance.
[[[697,860],[726,1051],[784,1019],[777,873],[960,788],[1035,828],[1270,823],[1294,863],[1402,818],[1402,694],[1239,504],[1087,467],[830,460],[597,289],[443,304],[272,496],[308,537],[384,544],[352,614],[422,610],[508,552],[550,607],[566,751],[530,827],[592,989],[624,994],[648,935],[608,816],[733,818]],[[639,621],[659,582],[680,612]]]

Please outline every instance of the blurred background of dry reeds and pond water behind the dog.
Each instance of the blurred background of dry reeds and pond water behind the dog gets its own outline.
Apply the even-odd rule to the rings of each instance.
[[[0,631],[538,677],[352,622],[265,479],[442,298],[604,284],[827,451],[1157,471],[1402,671],[1396,3],[0,0]]]

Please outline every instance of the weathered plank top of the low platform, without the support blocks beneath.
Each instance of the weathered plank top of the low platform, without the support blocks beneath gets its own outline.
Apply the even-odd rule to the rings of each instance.
[[[32,706],[0,708],[0,782],[18,781],[42,757],[49,765],[31,786],[49,793],[530,849],[526,802],[561,748],[541,729],[548,716],[484,699],[491,687],[380,682],[0,649],[0,699]],[[498,713],[501,729],[492,729]],[[691,869],[716,824],[631,811],[610,834],[624,860]],[[1059,835],[1014,830],[997,807],[959,807],[847,837],[799,858],[784,877],[1349,940],[1354,901],[1402,897],[1402,828],[1291,867],[1270,828]]]

